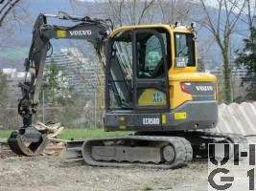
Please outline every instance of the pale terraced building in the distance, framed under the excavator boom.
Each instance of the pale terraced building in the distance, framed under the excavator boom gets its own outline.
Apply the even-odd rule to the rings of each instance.
[[[69,85],[81,93],[84,101],[95,97],[100,77],[98,63],[90,61],[76,48],[60,49],[46,59],[46,64],[52,60],[61,66]]]

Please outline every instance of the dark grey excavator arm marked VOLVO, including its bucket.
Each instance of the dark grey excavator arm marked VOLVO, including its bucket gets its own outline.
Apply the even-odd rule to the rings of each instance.
[[[47,24],[47,18],[54,17],[73,23],[71,26]],[[75,24],[74,24],[75,23]],[[57,15],[40,13],[35,21],[32,44],[25,59],[25,80],[19,86],[22,98],[18,104],[18,114],[23,118],[23,126],[12,132],[9,145],[18,155],[34,156],[41,153],[47,138],[32,125],[36,113],[41,89],[43,70],[47,53],[52,49],[51,39],[81,39],[91,43],[100,56],[102,63],[103,47],[108,34],[112,31],[112,22],[88,16],[73,16],[59,11]]]

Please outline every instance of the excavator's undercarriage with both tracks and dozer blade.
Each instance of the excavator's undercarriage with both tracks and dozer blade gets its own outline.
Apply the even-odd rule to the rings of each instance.
[[[243,143],[236,134],[212,132],[137,132],[113,138],[89,138],[68,141],[68,159],[84,159],[92,166],[143,166],[177,168],[192,159],[207,159],[209,143]],[[210,154],[211,155],[211,154]]]

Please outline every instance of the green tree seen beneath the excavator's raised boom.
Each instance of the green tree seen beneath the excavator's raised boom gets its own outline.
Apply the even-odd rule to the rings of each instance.
[[[46,66],[42,90],[49,106],[72,105],[80,98],[80,94],[68,83],[63,68],[54,59]]]

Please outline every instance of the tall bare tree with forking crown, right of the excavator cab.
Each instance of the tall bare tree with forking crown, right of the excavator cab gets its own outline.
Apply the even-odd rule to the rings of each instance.
[[[230,38],[235,32],[235,26],[244,11],[247,0],[218,0],[218,12],[213,14],[211,8],[207,7],[205,0],[200,0],[200,5],[204,14],[203,20],[200,22],[209,30],[216,39],[221,49],[223,61],[223,78],[224,78],[224,97],[225,102],[230,102],[231,97],[231,66],[230,66]],[[240,8],[240,9],[238,9]]]

